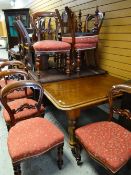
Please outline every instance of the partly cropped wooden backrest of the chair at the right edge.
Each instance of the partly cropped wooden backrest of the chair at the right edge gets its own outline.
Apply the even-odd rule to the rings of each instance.
[[[109,120],[112,119],[113,114],[118,114],[121,116],[125,116],[127,119],[131,119],[131,111],[128,109],[121,109],[120,107],[114,107],[114,96],[122,95],[122,93],[129,93],[131,94],[131,85],[129,84],[119,84],[114,85],[111,90],[109,91],[109,107],[110,107],[110,117]]]

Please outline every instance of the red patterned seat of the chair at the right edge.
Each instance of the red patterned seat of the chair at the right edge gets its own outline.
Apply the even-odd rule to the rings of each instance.
[[[113,173],[131,157],[131,133],[114,122],[96,122],[76,129],[85,149]]]

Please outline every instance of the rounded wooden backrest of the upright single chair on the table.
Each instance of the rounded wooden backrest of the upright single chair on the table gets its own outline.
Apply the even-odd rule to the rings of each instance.
[[[37,12],[32,15],[38,40],[57,39],[58,18],[55,12]]]

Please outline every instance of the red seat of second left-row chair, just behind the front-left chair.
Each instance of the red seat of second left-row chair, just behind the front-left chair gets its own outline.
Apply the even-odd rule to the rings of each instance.
[[[36,103],[37,102],[33,99],[23,98],[23,99],[17,99],[17,100],[8,102],[8,105],[10,106],[11,109],[16,110],[20,106],[22,106],[23,104],[29,104],[29,105],[34,106]],[[42,113],[44,111],[45,111],[45,108],[42,106],[41,109],[40,109],[40,113]],[[17,122],[17,121],[20,121],[20,120],[24,120],[24,119],[34,117],[36,115],[38,115],[38,110],[36,108],[35,109],[25,108],[24,110],[17,112],[14,116],[15,116],[15,119],[16,119],[16,122]],[[4,116],[5,121],[7,123],[10,123],[10,116],[9,116],[9,113],[7,112],[6,109],[3,110],[3,116]]]

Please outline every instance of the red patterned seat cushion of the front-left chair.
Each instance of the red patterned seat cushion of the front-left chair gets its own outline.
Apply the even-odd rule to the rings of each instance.
[[[13,162],[40,155],[63,142],[63,133],[40,117],[17,123],[8,134],[8,150]]]

